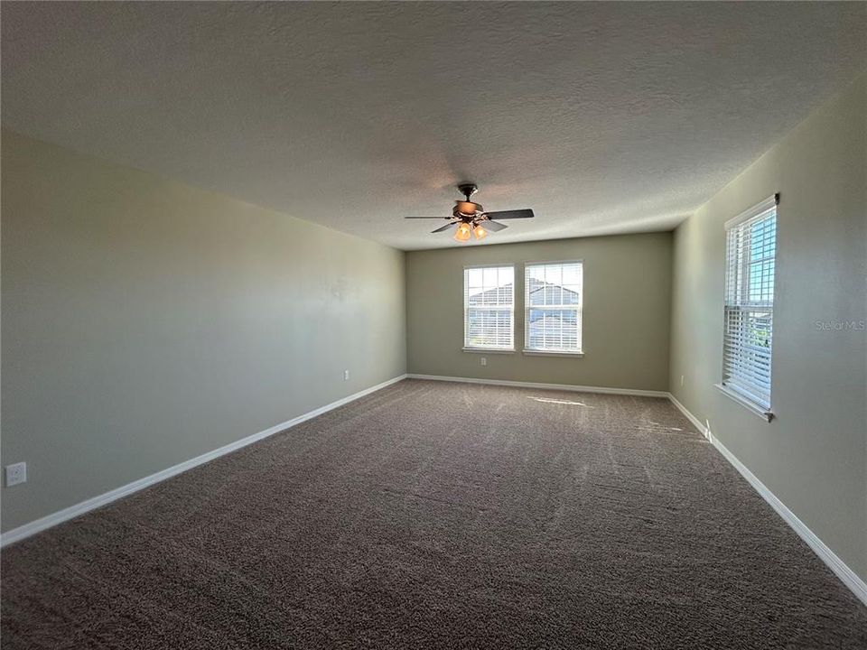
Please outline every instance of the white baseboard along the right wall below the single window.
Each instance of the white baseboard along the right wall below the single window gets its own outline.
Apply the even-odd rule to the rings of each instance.
[[[852,590],[853,594],[861,600],[864,605],[867,605],[867,583],[859,578],[858,575],[850,569],[845,562],[843,562],[843,560],[837,557],[837,554],[828,548],[827,545],[818,538],[816,533],[811,531],[804,522],[798,519],[797,515],[789,510],[786,504],[778,499],[777,495],[771,492],[769,488],[762,483],[759,478],[750,471],[750,469],[747,468],[746,465],[738,460],[737,456],[726,449],[725,445],[713,435],[713,432],[711,432],[709,427],[699,422],[698,418],[696,418],[693,413],[690,413],[683,404],[678,402],[674,395],[669,394],[668,399],[671,400],[671,403],[676,406],[677,410],[683,413],[686,418],[693,423],[695,428],[698,429],[698,431],[701,432],[717,450],[719,450],[722,457],[725,460],[728,460],[734,469],[741,472],[741,476],[746,478],[747,482],[750,483],[756,492],[758,492],[760,496],[777,511],[777,514],[780,515],[783,518],[783,521],[785,521],[789,527],[797,533],[798,537],[804,540],[806,545],[813,549],[813,552],[819,556],[819,559],[822,562],[825,562],[831,571],[834,571],[834,575],[836,575],[846,587]]]

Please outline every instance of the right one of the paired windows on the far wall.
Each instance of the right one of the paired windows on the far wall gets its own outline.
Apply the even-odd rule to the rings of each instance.
[[[531,352],[581,353],[581,262],[524,267],[525,348]]]

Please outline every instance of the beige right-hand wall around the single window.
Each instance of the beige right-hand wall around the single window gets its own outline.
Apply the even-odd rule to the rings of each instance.
[[[672,391],[814,533],[867,579],[867,77],[676,230]],[[722,373],[723,223],[780,192],[771,408]],[[832,323],[825,330],[824,323]],[[681,387],[681,376],[685,385]]]

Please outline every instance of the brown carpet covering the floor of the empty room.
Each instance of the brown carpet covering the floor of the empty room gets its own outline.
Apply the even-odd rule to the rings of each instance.
[[[4,648],[865,648],[665,400],[408,380],[9,547]]]

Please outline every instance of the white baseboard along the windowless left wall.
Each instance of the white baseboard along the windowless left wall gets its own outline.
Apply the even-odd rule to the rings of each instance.
[[[150,487],[154,485],[154,483],[159,483],[166,478],[172,478],[173,476],[176,476],[186,471],[187,469],[192,469],[198,465],[208,462],[209,460],[214,460],[216,458],[219,458],[220,456],[231,453],[232,451],[239,450],[242,447],[247,447],[248,444],[260,441],[263,438],[274,435],[275,433],[284,432],[286,429],[290,429],[296,424],[300,424],[301,422],[310,420],[317,415],[322,415],[322,413],[328,413],[329,411],[336,409],[338,406],[342,406],[343,404],[349,404],[350,402],[359,399],[359,397],[369,395],[370,393],[375,393],[376,391],[385,388],[388,385],[396,384],[403,379],[406,379],[406,375],[396,376],[392,379],[384,381],[382,384],[370,386],[369,388],[365,388],[364,390],[359,391],[354,395],[348,395],[347,397],[343,397],[336,402],[331,402],[331,404],[325,404],[324,406],[320,406],[318,409],[314,409],[309,413],[304,413],[303,415],[294,417],[292,420],[287,420],[286,422],[280,422],[279,424],[275,424],[273,427],[269,427],[265,431],[254,433],[253,435],[249,435],[247,436],[247,438],[242,438],[239,441],[230,442],[228,443],[228,445],[219,447],[219,449],[208,451],[190,460],[184,460],[182,463],[178,463],[177,465],[173,465],[170,468],[158,471],[155,474],[151,474],[150,476],[139,478],[132,483],[127,483],[125,486],[117,487],[109,492],[106,492],[105,494],[99,495],[98,497],[89,498],[87,501],[82,501],[75,506],[63,508],[62,510],[58,510],[56,513],[43,516],[39,519],[36,519],[35,521],[30,522],[29,524],[24,524],[18,526],[17,528],[13,528],[7,533],[0,535],[0,547],[18,542],[20,540],[23,540],[25,537],[30,537],[33,534],[41,533],[43,530],[51,528],[51,526],[61,524],[62,522],[72,519],[73,517],[83,515],[90,510],[94,510],[100,506],[106,506],[112,501],[117,501],[117,499],[119,498],[126,497],[133,494],[134,492],[138,492],[139,490],[144,489],[144,487]]]

